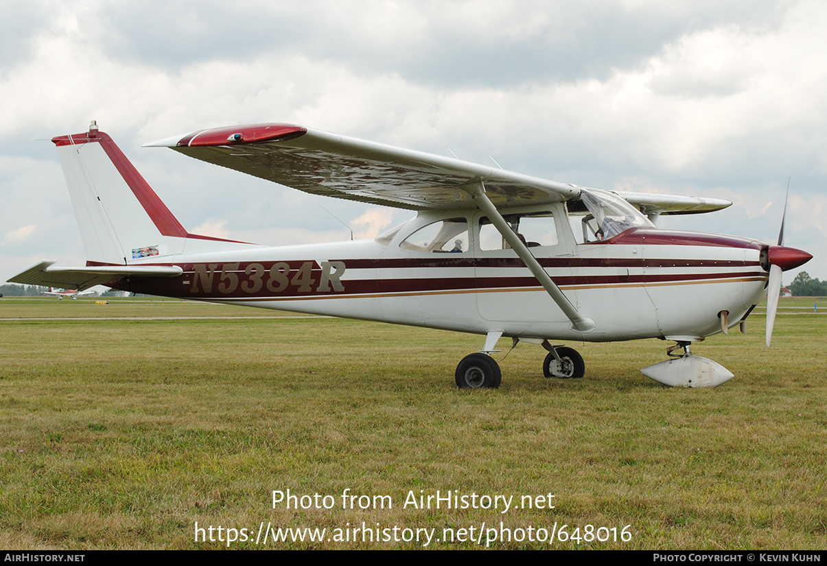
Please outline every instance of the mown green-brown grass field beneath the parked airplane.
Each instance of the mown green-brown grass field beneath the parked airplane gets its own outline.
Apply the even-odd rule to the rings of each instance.
[[[506,356],[502,340],[503,386],[486,391],[453,379],[480,336],[143,301],[0,299],[0,547],[226,546],[195,542],[196,521],[253,540],[262,521],[327,536],[365,521],[437,538],[502,521],[514,533],[557,523],[558,537],[494,548],[578,548],[559,541],[563,525],[569,535],[629,526],[628,542],[580,548],[827,547],[827,316],[810,299],[782,299],[771,349],[760,309],[749,335],[693,346],[735,374],[719,388],[643,377],[666,359],[660,340],[571,344],[586,359],[581,380],[542,378],[542,348]],[[157,316],[186,318],[147,318]],[[273,490],[288,488],[336,505],[274,509]],[[343,509],[345,489],[390,496],[393,508]],[[551,493],[556,507],[403,506],[409,491],[437,490],[514,502]],[[231,546],[422,546],[362,536]]]

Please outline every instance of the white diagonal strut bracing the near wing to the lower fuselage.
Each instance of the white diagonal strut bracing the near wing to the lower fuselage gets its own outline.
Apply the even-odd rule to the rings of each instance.
[[[519,259],[523,260],[523,264],[525,264],[532,275],[537,278],[540,284],[543,285],[543,288],[546,289],[546,292],[552,297],[552,300],[557,303],[557,307],[560,307],[560,310],[568,317],[571,321],[571,327],[580,332],[594,330],[595,321],[592,321],[590,318],[584,318],[577,312],[577,309],[569,302],[566,295],[564,295],[560,288],[552,281],[552,278],[548,276],[548,273],[546,273],[546,270],[540,265],[537,258],[528,251],[528,247],[514,234],[508,222],[505,221],[500,211],[497,210],[494,203],[491,202],[488,195],[485,194],[485,185],[482,181],[480,181],[479,184],[468,185],[464,188],[468,193],[471,193],[471,198],[476,202],[476,206],[488,215],[488,219],[496,229],[500,231],[500,235],[502,235],[512,249],[517,252]]]

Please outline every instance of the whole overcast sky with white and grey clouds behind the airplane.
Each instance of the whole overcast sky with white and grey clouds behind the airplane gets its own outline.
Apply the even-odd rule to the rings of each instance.
[[[659,225],[827,278],[827,3],[0,0],[0,279],[84,264],[53,136],[97,120],[189,231],[268,244],[411,216],[147,141],[284,121],[582,186],[724,197]],[[323,209],[324,207],[324,209]],[[786,274],[785,283],[792,275]]]

